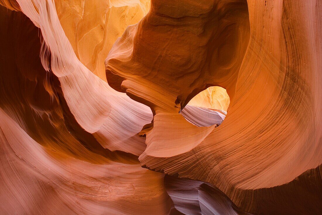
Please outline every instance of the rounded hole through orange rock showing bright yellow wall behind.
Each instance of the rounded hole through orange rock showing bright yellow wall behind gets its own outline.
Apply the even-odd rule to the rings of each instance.
[[[194,96],[180,113],[196,126],[219,126],[226,117],[229,103],[226,89],[211,86]]]

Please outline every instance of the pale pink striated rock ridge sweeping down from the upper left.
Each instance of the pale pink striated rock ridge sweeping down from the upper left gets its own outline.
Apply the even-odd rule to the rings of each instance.
[[[30,10],[32,2],[19,2],[22,11],[32,17],[33,23],[43,26],[42,64],[58,77],[60,89],[57,91],[62,94],[67,112],[74,118],[70,123],[75,121],[81,130],[92,134],[90,136],[104,148],[140,155],[145,146],[136,134],[144,124],[151,122],[150,109],[124,94],[115,93],[106,82],[91,73],[76,57],[60,25],[54,4],[47,1],[36,3],[33,2],[39,4],[37,10]],[[121,115],[128,117],[121,120]],[[122,149],[125,142],[127,147]]]

